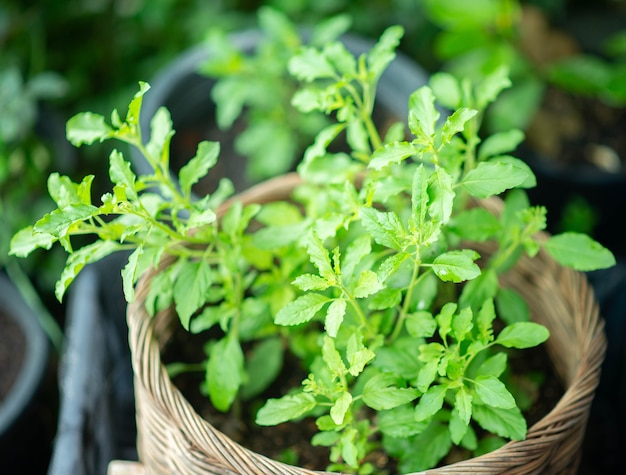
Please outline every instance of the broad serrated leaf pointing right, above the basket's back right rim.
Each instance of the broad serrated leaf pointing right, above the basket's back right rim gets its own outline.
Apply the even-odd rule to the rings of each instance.
[[[528,171],[523,168],[506,162],[489,161],[479,163],[460,184],[473,196],[488,198],[520,186],[528,177]]]

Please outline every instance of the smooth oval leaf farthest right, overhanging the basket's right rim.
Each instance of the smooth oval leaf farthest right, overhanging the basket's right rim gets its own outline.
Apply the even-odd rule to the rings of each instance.
[[[552,236],[542,244],[559,264],[578,271],[606,269],[615,265],[613,253],[585,234],[563,233]]]

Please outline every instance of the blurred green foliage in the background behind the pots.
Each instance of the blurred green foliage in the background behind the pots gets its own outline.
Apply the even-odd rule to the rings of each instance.
[[[570,65],[569,70],[547,68],[545,62],[553,59],[537,59],[533,56],[533,51],[538,51],[537,45],[522,41],[524,28],[541,27],[522,21],[529,17],[528,7],[541,13],[540,23],[558,26],[567,23],[576,9],[611,7],[623,14],[624,3],[620,0],[3,0],[0,4],[0,219],[3,223],[0,264],[8,260],[6,250],[13,232],[51,207],[45,193],[50,172],[60,171],[75,179],[85,173],[101,176],[102,171],[106,176],[105,146],[75,150],[65,141],[64,123],[69,117],[85,110],[103,114],[113,108],[123,110],[136,90],[137,81],[150,81],[174,57],[205,41],[215,29],[229,32],[255,27],[256,12],[262,5],[273,6],[302,25],[347,13],[352,17],[351,31],[371,38],[376,38],[389,25],[400,24],[405,28],[400,49],[431,72],[446,69],[478,75],[507,64],[514,87],[508,98],[496,104],[488,121],[497,130],[510,125],[524,129],[549,81],[577,93],[603,94],[604,99],[626,102],[624,91],[608,97],[607,87],[598,91],[589,86],[589,81],[586,84],[582,81],[589,77],[590,70],[600,71],[604,74],[601,80],[607,81],[602,84],[608,84],[614,64],[619,65],[622,74],[619,77],[624,78],[626,36],[623,34],[608,44],[608,50],[591,51],[597,53],[591,62],[586,57]],[[602,67],[598,67],[599,63]],[[614,70],[617,69],[616,66]],[[626,81],[618,83],[623,85]],[[98,192],[97,182],[94,192]],[[36,255],[20,266],[48,303],[61,263],[54,253],[46,256],[46,262],[43,259],[42,255]]]

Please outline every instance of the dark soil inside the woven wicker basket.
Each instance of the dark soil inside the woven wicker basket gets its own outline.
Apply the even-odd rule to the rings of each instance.
[[[200,362],[203,358],[201,352],[205,343],[206,336],[176,331],[172,341],[163,351],[163,362],[165,364]],[[543,380],[536,394],[536,402],[528,411],[525,411],[528,427],[531,427],[554,408],[563,395],[563,387],[552,369],[543,346],[525,350],[517,356],[512,355],[510,363],[513,374],[540,375]],[[268,393],[263,395],[263,400],[280,397],[290,388],[299,386],[306,377],[306,372],[298,366],[295,359],[288,358],[285,366],[282,376]],[[328,450],[324,447],[313,447],[310,444],[311,437],[317,432],[312,419],[304,419],[297,423],[284,423],[275,427],[259,427],[253,421],[261,402],[235,404],[230,413],[223,414],[215,410],[208,398],[202,395],[200,390],[202,378],[201,373],[184,373],[176,376],[173,382],[196,411],[214,427],[242,446],[272,459],[313,470],[324,470],[327,467]],[[452,463],[469,456],[469,453],[458,449],[452,452],[442,464]],[[376,466],[376,473],[397,473],[394,461],[382,452],[372,454],[369,461]]]

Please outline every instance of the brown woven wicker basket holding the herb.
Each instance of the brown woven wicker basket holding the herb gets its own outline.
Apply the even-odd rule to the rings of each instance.
[[[299,179],[286,175],[239,196],[245,203],[285,199]],[[481,206],[497,211],[501,203]],[[489,252],[488,248],[478,249]],[[167,260],[163,266],[167,266]],[[323,474],[254,453],[201,418],[172,384],[160,348],[169,338],[173,310],[151,318],[145,311],[150,280],[146,273],[128,308],[130,348],[135,377],[138,451],[150,474],[304,475]],[[546,342],[565,392],[556,406],[528,430],[523,441],[507,443],[486,455],[428,470],[441,473],[576,473],[589,408],[600,377],[606,347],[603,322],[585,277],[560,267],[544,252],[523,257],[502,283],[528,302],[533,320],[550,330]]]

